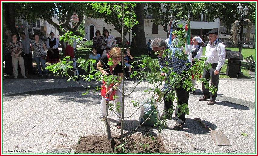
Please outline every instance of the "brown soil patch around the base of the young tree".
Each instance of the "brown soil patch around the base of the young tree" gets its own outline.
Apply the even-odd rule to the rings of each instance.
[[[140,135],[132,135],[125,146],[124,153],[168,153],[163,140],[159,136],[154,136],[154,140],[151,140],[149,136],[141,139],[142,136]],[[114,150],[114,148],[121,144],[120,141],[120,136],[114,136],[110,140],[107,139],[107,136],[82,137],[79,145],[76,147],[76,153],[121,153],[121,148]],[[136,144],[135,147],[134,144]],[[144,144],[146,144],[145,148],[143,148]],[[132,150],[129,151],[130,149]]]

